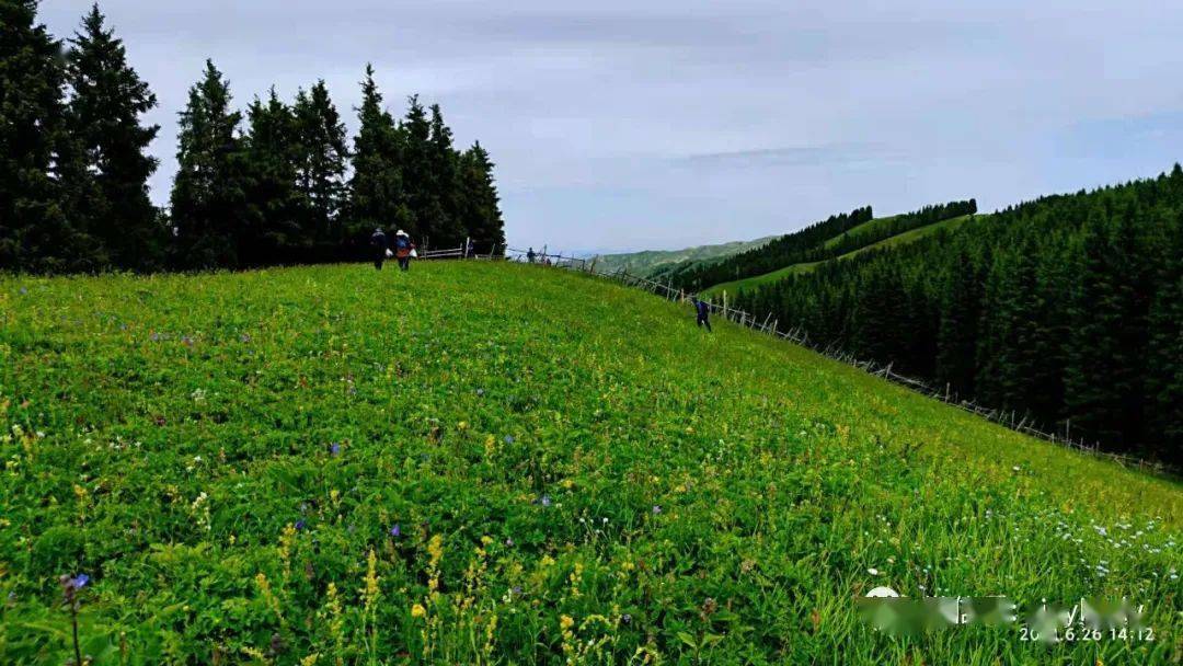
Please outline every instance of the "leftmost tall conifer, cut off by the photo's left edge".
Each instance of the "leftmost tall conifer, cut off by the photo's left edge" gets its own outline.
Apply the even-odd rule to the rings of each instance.
[[[89,179],[66,128],[62,46],[35,0],[0,0],[0,269],[90,270]]]

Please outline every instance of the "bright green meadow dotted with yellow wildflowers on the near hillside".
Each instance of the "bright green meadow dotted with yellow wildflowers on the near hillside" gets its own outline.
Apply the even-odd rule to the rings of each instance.
[[[1179,655],[1177,484],[557,270],[0,278],[0,426],[4,664],[79,573],[97,664]],[[875,586],[1158,640],[893,639]]]

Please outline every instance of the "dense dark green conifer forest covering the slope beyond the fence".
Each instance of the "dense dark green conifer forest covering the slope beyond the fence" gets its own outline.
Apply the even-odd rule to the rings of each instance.
[[[1178,166],[829,261],[737,304],[1060,434],[1183,461]]]

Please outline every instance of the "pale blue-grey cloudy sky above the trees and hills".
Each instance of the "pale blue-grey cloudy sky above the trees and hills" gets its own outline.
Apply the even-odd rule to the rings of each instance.
[[[59,38],[90,0],[44,0]],[[102,0],[160,106],[153,199],[205,59],[238,105],[323,78],[356,130],[438,102],[497,163],[512,246],[788,233],[864,205],[995,209],[1183,160],[1183,2]]]

